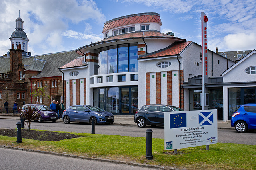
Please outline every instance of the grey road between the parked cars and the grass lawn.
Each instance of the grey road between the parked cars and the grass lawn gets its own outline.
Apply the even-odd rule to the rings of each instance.
[[[0,128],[14,129],[18,120],[0,119]],[[137,125],[96,125],[95,133],[107,135],[121,135],[133,137],[146,137],[146,129],[152,129],[153,138],[164,138],[164,127],[151,127],[139,128]],[[49,131],[66,131],[66,132],[79,132],[91,133],[91,125],[70,123],[64,124],[63,122],[32,122],[32,129],[49,130]],[[247,145],[256,145],[256,131],[248,131],[247,133],[237,133],[235,129],[225,130],[218,129],[218,142],[223,143],[238,143]]]

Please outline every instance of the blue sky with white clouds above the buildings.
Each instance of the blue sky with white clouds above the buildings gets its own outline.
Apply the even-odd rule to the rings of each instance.
[[[208,49],[256,49],[256,0],[0,0],[0,55],[11,48],[15,20],[24,21],[32,55],[75,50],[103,39],[106,21],[157,12],[161,32],[201,45],[201,12],[208,17]]]

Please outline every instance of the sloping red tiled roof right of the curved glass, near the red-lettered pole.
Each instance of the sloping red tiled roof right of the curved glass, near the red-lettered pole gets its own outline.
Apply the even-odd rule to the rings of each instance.
[[[167,49],[164,49],[162,51],[149,54],[143,57],[139,57],[138,59],[146,59],[146,58],[151,58],[151,57],[164,57],[164,56],[169,56],[169,55],[178,55],[183,49],[185,49],[192,41],[186,41],[182,43],[176,43],[173,46],[170,46]]]

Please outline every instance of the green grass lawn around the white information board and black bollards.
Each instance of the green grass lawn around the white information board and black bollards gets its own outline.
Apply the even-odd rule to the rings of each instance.
[[[64,132],[65,133],[65,132]],[[164,139],[152,139],[153,160],[147,160],[146,138],[117,135],[74,133],[83,137],[62,141],[37,141],[0,136],[0,145],[51,152],[65,152],[78,156],[127,160],[161,166],[176,166],[188,169],[256,169],[256,145],[218,143],[206,146],[164,150]]]

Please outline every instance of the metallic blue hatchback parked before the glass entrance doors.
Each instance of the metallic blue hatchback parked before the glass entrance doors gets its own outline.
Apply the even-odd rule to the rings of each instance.
[[[73,105],[63,111],[62,119],[65,124],[70,122],[91,123],[95,119],[98,123],[110,124],[114,122],[114,115],[91,105]]]

